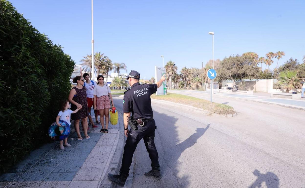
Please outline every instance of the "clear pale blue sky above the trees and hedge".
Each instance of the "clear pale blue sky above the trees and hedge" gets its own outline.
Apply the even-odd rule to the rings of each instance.
[[[90,0],[11,0],[41,33],[63,46],[77,64],[91,54]],[[247,51],[265,56],[284,51],[302,62],[305,55],[305,1],[102,1],[94,0],[95,51],[124,62],[128,73],[154,76],[154,66],[172,60],[201,67],[212,59]],[[270,66],[273,69],[274,64]],[[263,65],[264,68],[264,65]],[[123,71],[124,73],[125,71]]]

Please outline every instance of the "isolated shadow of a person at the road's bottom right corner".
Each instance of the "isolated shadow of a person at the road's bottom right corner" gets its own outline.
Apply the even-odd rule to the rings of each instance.
[[[249,188],[260,188],[262,187],[262,183],[265,182],[267,185],[267,188],[278,188],[279,186],[279,181],[278,181],[278,176],[276,176],[272,172],[267,172],[266,174],[261,174],[260,171],[255,169],[253,171],[253,174],[257,176],[257,179],[255,180],[254,183],[252,183]]]

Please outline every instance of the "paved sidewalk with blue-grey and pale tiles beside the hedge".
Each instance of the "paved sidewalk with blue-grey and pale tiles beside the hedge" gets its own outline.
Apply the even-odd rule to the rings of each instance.
[[[94,115],[92,118],[95,122]],[[0,176],[0,187],[113,187],[107,173],[113,171],[113,166],[120,166],[125,139],[122,114],[119,113],[117,125],[109,122],[109,133],[100,133],[101,124],[94,129],[89,126],[90,139],[85,139],[80,125],[83,140],[77,140],[73,125],[72,122],[68,137],[71,147],[60,150],[59,141],[54,141],[32,151]]]

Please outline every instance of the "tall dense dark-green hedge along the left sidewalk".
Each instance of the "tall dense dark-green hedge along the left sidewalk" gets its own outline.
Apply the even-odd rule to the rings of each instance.
[[[75,62],[0,0],[0,173],[48,142]]]

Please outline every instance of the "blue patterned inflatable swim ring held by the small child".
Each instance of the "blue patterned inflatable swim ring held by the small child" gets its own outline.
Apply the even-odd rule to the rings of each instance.
[[[63,120],[59,120],[59,123],[63,126],[63,134],[60,134],[59,126],[57,126],[56,122],[52,123],[48,131],[52,140],[64,140],[70,134],[69,123]]]

